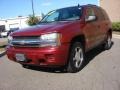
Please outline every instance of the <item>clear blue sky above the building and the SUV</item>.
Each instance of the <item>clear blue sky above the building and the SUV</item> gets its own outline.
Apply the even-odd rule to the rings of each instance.
[[[96,4],[98,0],[33,0],[36,15],[48,13],[51,10],[83,4]],[[14,18],[32,14],[31,0],[0,0],[0,18]]]

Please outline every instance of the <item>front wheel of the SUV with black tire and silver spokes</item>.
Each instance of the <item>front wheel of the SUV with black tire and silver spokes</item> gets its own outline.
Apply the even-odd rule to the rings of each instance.
[[[81,70],[84,62],[84,49],[80,42],[75,42],[70,50],[67,72],[75,73]]]

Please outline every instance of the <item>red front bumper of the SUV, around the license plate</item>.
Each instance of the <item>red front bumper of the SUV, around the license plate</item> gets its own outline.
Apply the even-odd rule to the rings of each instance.
[[[7,47],[7,56],[10,60],[17,62],[15,55],[24,54],[27,62],[19,63],[36,66],[63,66],[67,62],[68,52],[69,44],[44,48]]]

